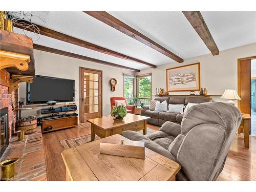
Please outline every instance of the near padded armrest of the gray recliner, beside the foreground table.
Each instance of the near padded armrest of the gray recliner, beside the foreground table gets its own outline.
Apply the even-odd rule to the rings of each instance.
[[[134,131],[124,131],[123,136],[126,137],[127,139],[131,139],[134,141],[144,141],[145,142],[145,147],[149,148],[150,150],[165,156],[169,159],[172,159],[173,161],[176,161],[176,157],[174,157],[170,152],[165,150],[162,146],[159,144],[155,143],[154,141],[146,138],[144,135],[134,132]]]

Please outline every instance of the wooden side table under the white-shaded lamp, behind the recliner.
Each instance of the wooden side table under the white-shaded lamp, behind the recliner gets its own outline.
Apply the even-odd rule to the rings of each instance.
[[[244,134],[244,146],[249,148],[250,143],[250,126],[251,126],[251,116],[250,114],[242,114],[242,121],[238,128],[238,133]]]

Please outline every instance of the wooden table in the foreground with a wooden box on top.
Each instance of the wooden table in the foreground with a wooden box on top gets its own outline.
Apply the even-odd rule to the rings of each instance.
[[[113,139],[127,139],[121,135]],[[61,153],[67,181],[175,181],[180,165],[145,147],[145,159],[99,153],[101,139]]]

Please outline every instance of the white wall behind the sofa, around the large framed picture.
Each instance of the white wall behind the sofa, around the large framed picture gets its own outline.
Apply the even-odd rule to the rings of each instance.
[[[256,55],[256,44],[249,44],[233,49],[220,51],[219,55],[202,55],[184,60],[183,63],[172,62],[158,66],[156,69],[141,70],[137,74],[152,73],[152,94],[156,88],[166,90],[166,69],[200,62],[201,87],[207,89],[207,94],[222,95],[225,89],[237,89],[238,59]],[[172,92],[171,95],[189,94],[189,92]],[[220,96],[214,100],[223,101]],[[225,101],[225,100],[224,100]]]

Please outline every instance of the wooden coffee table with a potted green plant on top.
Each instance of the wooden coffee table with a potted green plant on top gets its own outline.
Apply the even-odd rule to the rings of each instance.
[[[121,135],[123,131],[143,130],[145,135],[147,119],[150,118],[128,113],[122,120],[114,120],[112,116],[105,116],[87,121],[91,123],[91,139],[94,141],[95,134],[104,138],[115,134]]]

